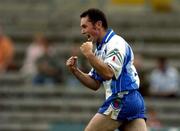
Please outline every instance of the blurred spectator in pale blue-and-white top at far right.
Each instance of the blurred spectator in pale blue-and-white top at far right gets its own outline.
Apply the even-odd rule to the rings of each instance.
[[[179,74],[176,68],[167,63],[165,57],[157,59],[157,67],[150,75],[150,93],[152,96],[175,97],[178,95]]]

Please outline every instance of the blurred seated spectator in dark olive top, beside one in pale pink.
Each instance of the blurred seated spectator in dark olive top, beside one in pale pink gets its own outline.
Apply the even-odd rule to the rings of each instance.
[[[63,81],[63,73],[52,46],[46,39],[43,40],[44,53],[36,60],[37,74],[33,84],[59,84]]]

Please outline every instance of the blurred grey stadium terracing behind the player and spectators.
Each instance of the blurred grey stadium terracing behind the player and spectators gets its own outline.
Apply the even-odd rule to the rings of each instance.
[[[110,27],[143,56],[147,74],[158,56],[180,69],[180,0],[0,0],[0,25],[16,49],[14,70],[0,74],[0,131],[81,131],[97,111],[103,90],[70,81],[65,67],[84,40],[79,14],[89,7],[105,11]],[[66,80],[60,85],[34,87],[20,73],[26,48],[40,32],[58,49]],[[179,98],[145,101],[163,125],[149,130],[180,131]]]

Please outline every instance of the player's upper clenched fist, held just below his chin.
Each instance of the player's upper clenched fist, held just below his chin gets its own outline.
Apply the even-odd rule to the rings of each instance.
[[[85,42],[81,45],[80,50],[82,54],[88,57],[90,54],[93,54],[93,43],[92,42]]]

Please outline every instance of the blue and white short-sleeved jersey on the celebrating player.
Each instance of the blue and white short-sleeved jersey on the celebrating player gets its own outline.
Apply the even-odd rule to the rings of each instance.
[[[102,83],[106,91],[106,99],[112,94],[139,88],[139,77],[133,65],[134,55],[131,47],[113,30],[108,30],[102,42],[97,44],[95,55],[108,64],[114,77],[104,80],[95,69],[91,69],[89,75]]]

